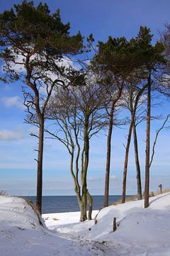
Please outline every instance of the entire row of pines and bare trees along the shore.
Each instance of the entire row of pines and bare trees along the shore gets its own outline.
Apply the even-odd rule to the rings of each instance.
[[[170,26],[152,44],[147,27],[129,41],[109,36],[106,43],[69,35],[60,10],[50,14],[47,4],[23,1],[0,14],[1,65],[4,82],[23,82],[26,122],[38,127],[37,201],[42,209],[42,162],[45,134],[66,147],[70,172],[81,211],[80,221],[91,219],[93,198],[87,172],[91,138],[107,132],[106,178],[103,205],[108,206],[113,127],[128,124],[123,169],[122,203],[125,203],[130,142],[133,136],[137,198],[142,198],[137,125],[146,123],[145,208],[149,206],[150,121],[154,92],[169,97]],[[95,49],[95,50],[94,50]],[[90,54],[89,54],[90,53]],[[87,61],[87,55],[93,56]],[[19,65],[21,68],[16,68]],[[119,113],[129,111],[129,118]],[[157,117],[155,117],[157,118]],[[166,118],[167,121],[168,118]],[[163,126],[162,126],[163,129]],[[160,130],[159,130],[160,131]],[[158,134],[157,134],[158,135]],[[156,137],[157,139],[157,137]],[[156,143],[156,141],[155,141]],[[155,144],[154,144],[155,146]],[[89,215],[87,216],[87,206]]]

